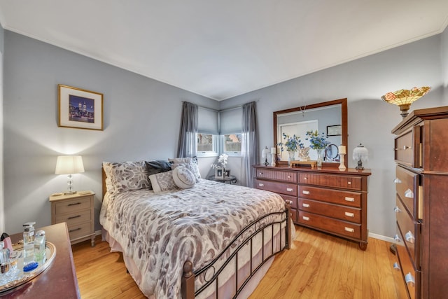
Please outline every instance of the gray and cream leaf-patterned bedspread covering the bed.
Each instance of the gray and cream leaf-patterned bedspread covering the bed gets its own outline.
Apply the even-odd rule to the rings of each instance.
[[[283,209],[275,193],[201,179],[190,189],[106,196],[100,223],[139,267],[146,296],[180,298],[186,260],[204,267],[248,223]]]

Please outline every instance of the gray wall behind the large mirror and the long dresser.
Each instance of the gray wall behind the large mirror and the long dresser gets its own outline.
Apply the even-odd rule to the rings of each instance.
[[[392,237],[395,234],[395,164],[391,130],[401,116],[398,106],[383,102],[381,95],[428,85],[432,87],[430,93],[412,104],[411,110],[440,106],[441,49],[441,35],[432,36],[228,99],[220,103],[220,109],[258,99],[260,148],[264,148],[273,144],[272,111],[346,97],[349,167],[356,166],[351,152],[360,142],[370,153],[366,165],[372,169],[368,182],[368,229],[370,233]]]

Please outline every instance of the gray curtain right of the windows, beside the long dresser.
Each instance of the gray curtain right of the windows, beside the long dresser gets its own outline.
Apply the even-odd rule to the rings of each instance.
[[[241,182],[253,186],[253,167],[258,161],[258,126],[255,102],[243,105],[241,134]]]

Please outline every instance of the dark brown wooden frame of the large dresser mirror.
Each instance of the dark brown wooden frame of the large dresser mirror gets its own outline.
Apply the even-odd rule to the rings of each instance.
[[[332,105],[337,105],[337,104],[341,104],[341,125],[342,125],[342,145],[346,146],[346,148],[348,148],[348,144],[349,144],[349,134],[348,134],[348,126],[347,126],[347,99],[335,99],[332,101],[328,101],[328,102],[321,102],[321,103],[316,103],[316,104],[311,104],[311,105],[306,105],[306,106],[300,106],[300,107],[295,107],[295,108],[290,108],[290,109],[285,109],[285,110],[280,110],[280,111],[274,111],[274,125],[273,125],[273,132],[274,132],[274,145],[276,146],[277,150],[278,150],[278,146],[277,144],[277,116],[279,116],[279,114],[283,114],[283,113],[290,113],[290,112],[296,112],[296,111],[307,111],[309,109],[314,109],[314,108],[320,108],[320,107],[325,107],[325,106],[332,106]],[[347,151],[347,154],[349,152]],[[277,154],[275,155],[275,159],[276,159],[276,164],[277,165],[288,165],[288,161],[279,161],[277,160]],[[346,168],[348,168],[348,160],[347,158],[344,159],[344,165]],[[335,162],[323,162],[322,163],[322,167],[339,167],[339,163],[335,163]]]

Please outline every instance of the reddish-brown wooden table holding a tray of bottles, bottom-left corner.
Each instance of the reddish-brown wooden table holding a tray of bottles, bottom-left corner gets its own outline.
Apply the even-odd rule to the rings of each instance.
[[[1,298],[80,298],[66,223],[36,228],[37,230],[44,230],[48,242],[55,244],[55,260],[37,277]],[[13,243],[23,239],[22,233],[10,237]]]

